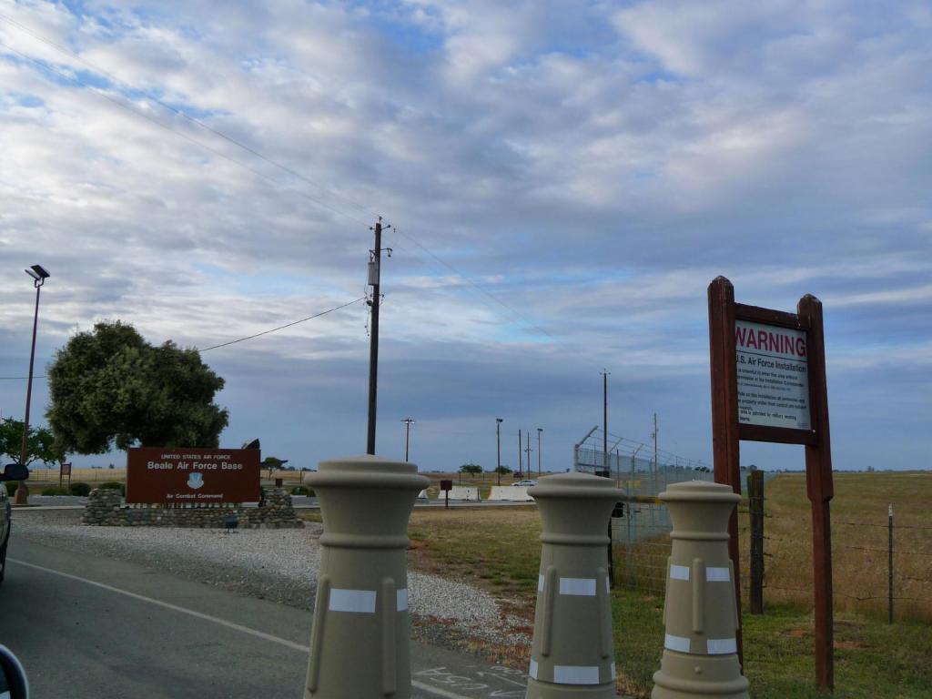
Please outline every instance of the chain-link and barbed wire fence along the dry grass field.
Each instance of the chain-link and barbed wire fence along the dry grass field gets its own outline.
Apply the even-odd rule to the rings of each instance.
[[[609,475],[623,487],[629,502],[613,517],[614,579],[616,584],[663,595],[666,562],[670,555],[669,512],[657,496],[674,483],[712,481],[711,467],[701,461],[665,455],[654,461],[641,451],[619,448],[606,458],[593,445],[576,450],[579,471]],[[610,473],[606,473],[610,472]],[[745,485],[747,473],[742,473]],[[769,482],[778,473],[764,473]],[[746,490],[747,492],[747,486]],[[836,610],[854,610],[896,619],[932,622],[932,526],[898,524],[883,513],[866,514],[865,521],[832,519],[833,595]],[[808,515],[806,515],[808,516]],[[772,515],[765,514],[773,522]],[[750,514],[747,500],[738,506],[743,597],[750,598]],[[764,613],[768,604],[808,607],[813,601],[812,544],[809,538],[781,536],[768,525],[763,534]]]

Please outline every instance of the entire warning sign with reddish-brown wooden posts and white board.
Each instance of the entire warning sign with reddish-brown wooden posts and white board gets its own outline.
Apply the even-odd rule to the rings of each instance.
[[[734,303],[731,281],[708,286],[715,480],[741,493],[740,440],[805,445],[812,504],[816,606],[816,682],[835,684],[832,653],[829,399],[822,303],[800,299],[796,313]],[[741,610],[738,520],[729,525],[734,595]],[[744,662],[742,634],[738,654]]]

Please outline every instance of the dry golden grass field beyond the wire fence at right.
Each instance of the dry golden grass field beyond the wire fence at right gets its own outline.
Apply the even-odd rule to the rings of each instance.
[[[932,621],[932,473],[835,473],[834,483],[835,609],[886,614],[887,505],[892,503],[896,617]],[[805,476],[782,474],[769,481],[764,513],[765,604],[811,605],[812,520]],[[747,576],[747,512],[740,523]]]

